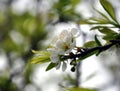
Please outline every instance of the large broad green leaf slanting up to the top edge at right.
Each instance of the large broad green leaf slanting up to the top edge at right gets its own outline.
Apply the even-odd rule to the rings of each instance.
[[[108,0],[100,0],[101,5],[106,10],[106,12],[110,15],[110,17],[117,22],[115,10],[112,6],[112,4]]]

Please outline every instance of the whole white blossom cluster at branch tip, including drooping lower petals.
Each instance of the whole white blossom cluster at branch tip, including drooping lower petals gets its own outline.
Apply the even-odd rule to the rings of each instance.
[[[76,28],[63,30],[50,48],[47,49],[50,52],[50,60],[52,63],[56,63],[56,69],[59,69],[62,65],[62,70],[67,68],[67,60],[63,59],[65,55],[70,55],[72,50],[76,47],[76,38],[79,36],[79,31]]]

